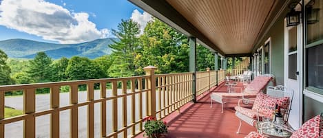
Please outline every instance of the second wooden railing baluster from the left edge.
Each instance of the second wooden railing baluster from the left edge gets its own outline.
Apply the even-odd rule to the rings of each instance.
[[[35,116],[34,112],[35,110],[35,89],[25,89],[23,93],[23,112],[25,114],[29,114],[30,117],[27,117],[25,119],[24,125],[23,125],[23,133],[25,138],[29,137],[36,137],[36,131],[35,131]]]

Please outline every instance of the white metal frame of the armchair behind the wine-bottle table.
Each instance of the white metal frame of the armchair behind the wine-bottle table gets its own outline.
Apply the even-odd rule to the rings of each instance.
[[[293,90],[286,89],[282,86],[268,87],[267,95],[271,95],[271,97],[289,97],[289,107],[285,110],[282,110],[282,113],[284,115],[284,120],[286,122],[288,122],[289,113],[291,111],[291,102],[293,100]],[[244,100],[249,101],[249,102],[255,102],[255,100],[240,99],[238,101],[238,107],[241,107],[240,102],[242,102]],[[243,108],[243,107],[241,107],[241,108]],[[269,108],[269,107],[260,107],[260,108]],[[243,113],[240,113],[239,111],[236,111],[236,116],[240,119],[240,124],[239,124],[237,133],[240,133],[242,121],[246,122],[247,124],[249,124],[251,126],[255,126],[255,123],[260,120],[260,114],[262,114],[262,113],[260,113],[260,108],[257,108],[257,111],[256,111],[257,118],[256,119],[251,118],[247,115],[244,115]],[[271,109],[274,110],[274,108],[271,108]]]

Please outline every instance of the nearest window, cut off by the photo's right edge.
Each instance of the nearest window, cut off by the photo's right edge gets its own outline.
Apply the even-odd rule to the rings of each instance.
[[[313,4],[314,2],[314,4]],[[306,89],[323,95],[323,1],[310,1],[316,8],[318,21],[306,25]],[[306,12],[306,16],[309,12]]]

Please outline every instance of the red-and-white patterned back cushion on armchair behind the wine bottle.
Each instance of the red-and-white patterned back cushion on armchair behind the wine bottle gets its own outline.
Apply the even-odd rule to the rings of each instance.
[[[252,110],[256,111],[259,108],[259,112],[266,116],[271,116],[275,104],[278,104],[282,109],[289,108],[289,97],[271,97],[263,93],[259,93],[256,97],[255,103],[253,104]],[[265,107],[265,108],[260,108]]]

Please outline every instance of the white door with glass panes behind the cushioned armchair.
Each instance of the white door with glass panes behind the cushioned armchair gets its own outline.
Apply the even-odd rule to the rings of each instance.
[[[293,89],[293,101],[291,104],[291,113],[289,115],[289,124],[294,129],[300,128],[302,120],[302,93],[300,69],[302,60],[300,50],[302,45],[301,25],[285,28],[285,46],[284,46],[284,80],[287,89]]]

